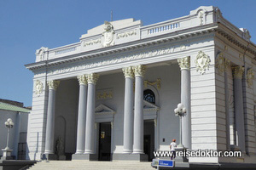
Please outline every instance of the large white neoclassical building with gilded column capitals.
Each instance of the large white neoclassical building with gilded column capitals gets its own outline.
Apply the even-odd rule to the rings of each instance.
[[[188,150],[241,150],[241,157],[189,163],[255,163],[256,45],[218,8],[143,26],[116,20],[77,43],[40,48],[29,115],[28,159],[151,160],[179,143]]]

